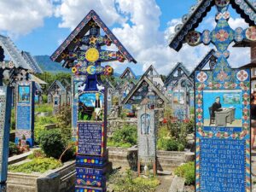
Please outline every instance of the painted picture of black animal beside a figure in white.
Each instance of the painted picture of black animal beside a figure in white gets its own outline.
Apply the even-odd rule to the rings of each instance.
[[[104,110],[101,92],[83,93],[79,96],[79,120],[102,121]]]

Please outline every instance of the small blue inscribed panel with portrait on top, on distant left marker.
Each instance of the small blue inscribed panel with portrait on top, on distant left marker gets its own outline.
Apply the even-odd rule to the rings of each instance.
[[[30,146],[34,143],[34,88],[34,82],[28,81],[16,86],[16,144],[24,137]]]

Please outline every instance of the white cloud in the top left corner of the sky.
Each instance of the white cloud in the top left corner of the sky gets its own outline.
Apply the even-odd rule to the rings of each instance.
[[[44,26],[44,17],[53,14],[49,0],[1,0],[0,32],[10,35],[25,35],[34,28]]]

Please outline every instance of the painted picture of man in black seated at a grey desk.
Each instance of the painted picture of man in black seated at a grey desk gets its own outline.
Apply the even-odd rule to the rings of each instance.
[[[241,127],[241,90],[204,90],[204,126]]]

